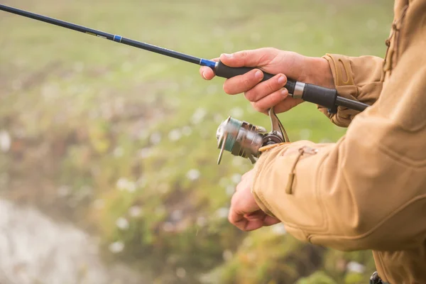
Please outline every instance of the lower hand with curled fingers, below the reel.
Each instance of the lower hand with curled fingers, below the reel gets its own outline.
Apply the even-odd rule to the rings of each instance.
[[[264,213],[251,193],[254,171],[250,170],[241,178],[231,200],[229,222],[242,231],[253,231],[263,226],[280,223],[279,219]]]

